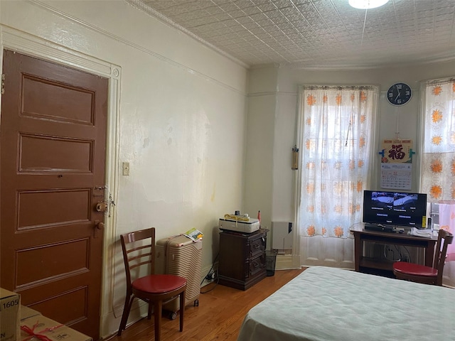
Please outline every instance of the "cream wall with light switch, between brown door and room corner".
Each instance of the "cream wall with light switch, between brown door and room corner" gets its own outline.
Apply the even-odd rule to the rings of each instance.
[[[218,218],[243,204],[247,70],[124,1],[2,0],[0,24],[121,70],[113,168],[121,174],[127,161],[130,175],[111,174],[118,178],[105,231],[106,337],[124,302],[119,234],[154,226],[160,239],[196,227],[205,235],[203,272],[210,268]]]

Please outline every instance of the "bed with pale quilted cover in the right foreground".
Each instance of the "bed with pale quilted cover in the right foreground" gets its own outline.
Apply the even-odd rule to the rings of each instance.
[[[455,289],[313,266],[253,307],[237,341],[455,340]]]

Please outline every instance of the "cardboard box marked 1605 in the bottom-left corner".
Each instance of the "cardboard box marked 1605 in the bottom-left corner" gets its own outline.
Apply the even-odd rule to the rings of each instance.
[[[20,335],[21,296],[0,288],[0,341],[16,341]]]

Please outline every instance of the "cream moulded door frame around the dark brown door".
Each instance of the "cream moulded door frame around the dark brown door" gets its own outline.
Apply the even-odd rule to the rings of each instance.
[[[106,173],[105,200],[114,203],[119,190],[119,118],[120,118],[120,82],[122,67],[105,60],[79,53],[49,40],[32,36],[28,33],[0,25],[0,65],[3,67],[3,50],[12,50],[31,57],[48,60],[109,80],[107,131],[106,131]],[[0,92],[1,101],[1,92]],[[1,115],[1,108],[0,108]],[[100,337],[105,336],[109,324],[109,313],[113,311],[112,287],[114,285],[114,248],[117,231],[117,217],[114,205],[109,205],[105,213],[105,232],[102,247],[104,259],[102,267],[102,288],[100,298]]]

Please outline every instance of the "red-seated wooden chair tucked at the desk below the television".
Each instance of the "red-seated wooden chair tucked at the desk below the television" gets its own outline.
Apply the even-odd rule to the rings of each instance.
[[[398,279],[442,286],[442,271],[444,271],[447,246],[451,244],[453,239],[454,236],[450,232],[439,229],[433,267],[408,263],[407,261],[395,261],[393,274]]]

